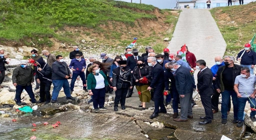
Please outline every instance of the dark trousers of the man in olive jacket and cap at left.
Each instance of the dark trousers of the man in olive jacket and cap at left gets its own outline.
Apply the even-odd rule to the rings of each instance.
[[[15,98],[16,98],[16,103],[20,103],[21,101],[21,93],[23,90],[26,90],[26,92],[28,93],[29,97],[31,98],[31,101],[32,102],[36,102],[36,99],[35,99],[35,95],[34,95],[34,92],[32,90],[32,85],[29,85],[29,86],[21,86],[21,85],[17,85],[16,86],[16,95],[15,95]]]

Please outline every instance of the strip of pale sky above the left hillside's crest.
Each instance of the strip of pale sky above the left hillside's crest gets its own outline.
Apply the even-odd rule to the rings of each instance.
[[[131,2],[131,0],[120,0]],[[140,0],[132,0],[133,3],[140,3]],[[150,4],[160,9],[170,9],[176,6],[176,0],[141,0],[143,4]]]

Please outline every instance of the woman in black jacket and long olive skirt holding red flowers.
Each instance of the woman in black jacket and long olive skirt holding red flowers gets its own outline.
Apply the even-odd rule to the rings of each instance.
[[[150,83],[142,82],[146,77],[146,79],[150,80],[151,79],[151,67],[145,66],[144,60],[139,59],[137,61],[137,66],[134,68],[132,77],[134,84],[136,86],[136,89],[138,90],[139,98],[140,98],[140,106],[142,107],[142,110],[146,109],[146,102],[149,102],[151,99],[150,91],[147,90],[149,87]]]

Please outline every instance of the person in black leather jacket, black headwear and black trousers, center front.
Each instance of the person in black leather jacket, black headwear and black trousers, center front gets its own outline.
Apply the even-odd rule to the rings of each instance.
[[[120,102],[122,110],[125,110],[125,99],[128,89],[132,88],[132,73],[130,68],[126,67],[126,60],[118,61],[119,67],[113,70],[113,89],[115,91],[114,111],[117,111]]]

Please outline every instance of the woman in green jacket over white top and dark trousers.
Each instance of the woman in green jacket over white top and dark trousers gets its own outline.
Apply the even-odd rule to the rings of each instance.
[[[90,66],[88,68],[90,74],[87,77],[87,89],[89,95],[92,96],[93,107],[95,112],[100,110],[107,110],[104,107],[105,102],[105,86],[108,86],[108,78],[100,68],[97,66]],[[100,108],[98,108],[98,106]]]

